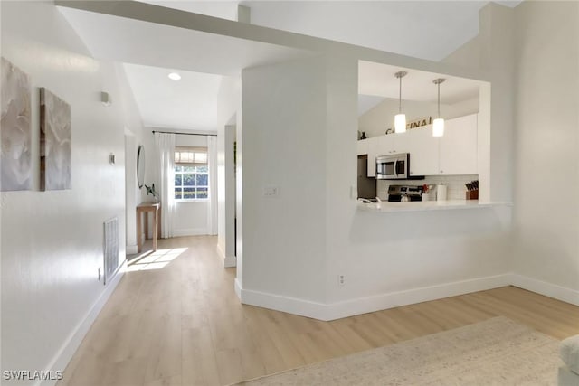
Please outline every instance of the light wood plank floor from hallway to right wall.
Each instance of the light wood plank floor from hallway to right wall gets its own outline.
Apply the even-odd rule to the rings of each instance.
[[[59,385],[226,385],[497,315],[557,339],[579,334],[579,307],[516,287],[333,322],[242,306],[215,242],[160,240],[168,253],[133,264],[142,270],[119,283]]]

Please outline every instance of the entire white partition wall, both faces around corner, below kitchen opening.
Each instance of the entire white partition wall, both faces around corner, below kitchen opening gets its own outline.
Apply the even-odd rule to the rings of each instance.
[[[508,284],[508,208],[356,209],[356,58],[243,71],[242,97],[244,303],[333,319]]]

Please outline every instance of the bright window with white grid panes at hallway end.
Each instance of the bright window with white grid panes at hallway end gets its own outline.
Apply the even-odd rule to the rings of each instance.
[[[206,147],[176,147],[175,198],[176,200],[209,198]]]

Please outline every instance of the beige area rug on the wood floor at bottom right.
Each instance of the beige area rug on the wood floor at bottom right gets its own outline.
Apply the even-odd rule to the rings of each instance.
[[[240,385],[555,385],[559,341],[498,316]]]

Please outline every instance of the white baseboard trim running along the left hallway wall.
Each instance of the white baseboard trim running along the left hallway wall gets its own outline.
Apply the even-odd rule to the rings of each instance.
[[[100,297],[93,303],[90,310],[84,315],[81,322],[72,329],[69,337],[64,341],[61,349],[54,355],[52,362],[48,365],[48,371],[58,372],[64,371],[66,366],[71,362],[72,355],[76,353],[79,346],[81,345],[82,339],[89,332],[90,326],[97,319],[100,314],[100,310],[109,300],[110,295],[113,293],[115,288],[119,285],[120,279],[123,277],[125,270],[127,269],[127,260],[123,261],[121,268],[119,268],[119,273],[112,281],[105,287],[105,290],[100,294]],[[66,377],[66,374],[65,374]],[[42,386],[53,386],[57,381],[39,381],[37,385]]]

